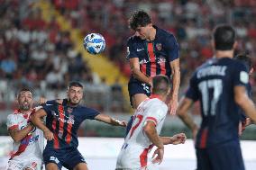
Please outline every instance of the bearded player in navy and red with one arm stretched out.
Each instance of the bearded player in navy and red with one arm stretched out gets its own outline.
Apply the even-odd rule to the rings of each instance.
[[[58,170],[62,166],[74,170],[87,170],[87,163],[78,151],[78,128],[86,119],[103,121],[114,126],[126,126],[126,122],[82,106],[83,85],[71,82],[67,99],[48,101],[42,109],[32,115],[32,123],[43,131],[47,139],[43,161],[47,170]],[[46,125],[41,118],[46,116]]]

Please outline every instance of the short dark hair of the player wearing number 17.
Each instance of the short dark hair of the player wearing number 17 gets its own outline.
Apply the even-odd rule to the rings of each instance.
[[[235,31],[230,25],[219,25],[214,31],[215,49],[231,50],[235,41]]]

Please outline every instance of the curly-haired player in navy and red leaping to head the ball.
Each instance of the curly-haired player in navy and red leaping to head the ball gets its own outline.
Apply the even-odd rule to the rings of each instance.
[[[133,13],[129,26],[135,31],[127,42],[132,70],[128,91],[133,108],[137,109],[151,95],[152,77],[165,75],[172,78],[168,104],[170,114],[175,114],[180,82],[177,40],[169,31],[153,25],[150,15],[143,11]]]

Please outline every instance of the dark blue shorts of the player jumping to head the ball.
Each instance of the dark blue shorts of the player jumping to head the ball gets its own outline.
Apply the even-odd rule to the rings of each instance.
[[[128,91],[129,91],[130,102],[132,106],[133,106],[132,97],[134,94],[146,94],[148,96],[151,96],[151,86],[135,80],[129,81]]]

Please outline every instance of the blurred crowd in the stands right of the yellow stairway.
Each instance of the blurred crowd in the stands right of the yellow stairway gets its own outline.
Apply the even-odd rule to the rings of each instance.
[[[101,32],[106,40],[105,54],[130,76],[125,60],[127,38],[133,34],[127,19],[136,9],[149,12],[152,21],[175,34],[180,47],[182,85],[206,58],[211,58],[211,31],[218,23],[231,23],[237,31],[236,51],[256,54],[256,1],[254,0],[52,0],[56,9],[84,34]]]

